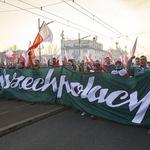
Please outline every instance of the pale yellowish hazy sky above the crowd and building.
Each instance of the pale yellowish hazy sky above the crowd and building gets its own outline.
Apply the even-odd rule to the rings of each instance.
[[[54,23],[49,27],[53,44],[60,45],[64,30],[66,39],[97,35],[107,50],[119,46],[131,50],[138,37],[139,54],[150,55],[150,0],[0,0],[0,51],[17,45],[27,49],[38,32],[38,18]]]

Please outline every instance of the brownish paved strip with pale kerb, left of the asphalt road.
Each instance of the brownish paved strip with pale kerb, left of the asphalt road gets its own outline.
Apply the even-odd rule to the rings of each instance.
[[[0,99],[0,137],[26,125],[47,118],[66,109],[62,105],[51,105]]]

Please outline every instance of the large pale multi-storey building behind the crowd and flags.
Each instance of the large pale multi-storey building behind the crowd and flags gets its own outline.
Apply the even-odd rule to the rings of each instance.
[[[70,59],[85,60],[88,52],[91,53],[93,60],[101,59],[106,53],[103,51],[103,45],[95,40],[61,40],[61,55],[65,52]]]

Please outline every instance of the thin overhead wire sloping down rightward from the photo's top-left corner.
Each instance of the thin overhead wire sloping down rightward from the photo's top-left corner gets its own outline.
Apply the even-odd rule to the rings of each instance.
[[[43,18],[45,18],[45,19],[48,19],[48,20],[54,20],[54,19],[51,19],[51,18],[49,18],[49,17],[45,17],[45,16],[43,16],[43,15],[41,15],[41,14],[34,13],[34,12],[29,11],[29,10],[27,10],[27,9],[18,7],[18,6],[16,6],[16,5],[13,5],[13,4],[8,3],[8,2],[4,2],[4,1],[0,1],[0,2],[5,3],[5,4],[7,4],[7,5],[10,5],[10,6],[13,6],[13,7],[18,8],[18,9],[23,10],[23,11],[27,11],[28,13],[31,13],[31,14],[34,14],[34,15],[43,17]],[[56,21],[56,20],[54,20],[54,21],[57,22],[57,23],[59,23],[59,24],[68,26],[68,27],[70,27],[70,28],[73,28],[73,29],[75,29],[75,30],[78,30],[78,31],[81,31],[81,32],[84,32],[84,33],[87,33],[87,34],[91,34],[91,33],[87,32],[87,31],[84,31],[84,30],[78,29],[78,28],[76,28],[76,27],[70,26],[69,24],[65,24],[65,23],[62,23],[62,22],[59,22],[59,21]],[[92,34],[92,35],[93,35],[93,34]]]

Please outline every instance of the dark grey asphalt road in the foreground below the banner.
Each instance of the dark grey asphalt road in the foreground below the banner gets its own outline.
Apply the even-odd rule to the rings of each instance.
[[[0,138],[0,150],[149,150],[148,129],[66,110]]]

